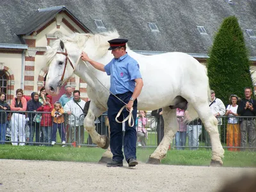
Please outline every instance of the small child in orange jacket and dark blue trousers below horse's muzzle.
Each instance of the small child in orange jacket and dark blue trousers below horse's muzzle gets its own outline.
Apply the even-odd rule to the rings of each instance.
[[[62,147],[65,147],[66,140],[65,140],[65,128],[64,128],[64,117],[63,117],[64,110],[61,107],[60,102],[54,103],[54,108],[52,109],[52,117],[53,117],[53,130],[52,130],[52,145],[56,144],[56,133],[57,128],[59,130]]]

